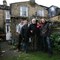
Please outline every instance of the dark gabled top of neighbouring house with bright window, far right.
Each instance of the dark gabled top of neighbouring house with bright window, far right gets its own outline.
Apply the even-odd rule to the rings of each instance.
[[[60,15],[60,8],[54,5],[50,6],[48,8],[48,15],[49,17],[55,17]]]

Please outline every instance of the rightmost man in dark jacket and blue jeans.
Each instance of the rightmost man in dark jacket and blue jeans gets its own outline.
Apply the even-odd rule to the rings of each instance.
[[[40,36],[42,38],[42,48],[44,51],[48,51],[49,55],[52,53],[51,40],[50,40],[51,28],[49,23],[44,18],[41,19]]]

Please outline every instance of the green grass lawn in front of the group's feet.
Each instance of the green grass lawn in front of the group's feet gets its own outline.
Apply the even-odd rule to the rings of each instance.
[[[54,54],[52,57],[49,57],[47,53],[43,52],[21,53],[17,60],[60,60],[60,55]]]

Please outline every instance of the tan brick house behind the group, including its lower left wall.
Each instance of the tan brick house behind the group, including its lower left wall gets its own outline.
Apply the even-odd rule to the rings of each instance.
[[[38,5],[35,0],[11,3],[11,31],[14,36],[16,33],[16,25],[20,22],[20,19],[28,19],[36,17],[47,17],[47,7]]]

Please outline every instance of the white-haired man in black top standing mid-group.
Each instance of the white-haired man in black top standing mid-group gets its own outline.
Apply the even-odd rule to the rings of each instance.
[[[31,24],[29,26],[29,36],[31,37],[31,45],[32,50],[37,49],[37,42],[36,42],[36,19],[32,19]]]

